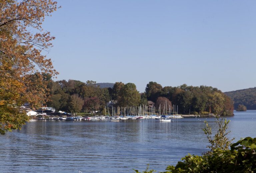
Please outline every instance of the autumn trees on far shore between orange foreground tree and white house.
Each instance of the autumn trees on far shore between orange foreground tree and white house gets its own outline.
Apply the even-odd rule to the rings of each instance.
[[[102,111],[106,102],[110,100],[109,89],[100,88],[95,81],[87,81],[86,83],[78,80],[69,80],[68,82],[65,80],[50,81],[48,88],[50,90],[50,101],[47,102],[47,105],[55,107],[56,111],[79,112],[81,104],[86,111]],[[76,103],[74,104],[74,98],[71,98],[72,95],[77,95],[82,99],[79,101],[78,107]]]

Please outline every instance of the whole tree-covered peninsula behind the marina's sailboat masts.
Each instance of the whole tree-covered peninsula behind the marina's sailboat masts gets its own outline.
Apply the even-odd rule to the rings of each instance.
[[[68,113],[102,112],[107,102],[119,107],[154,104],[162,107],[178,106],[179,114],[196,114],[230,116],[233,115],[233,101],[229,96],[211,86],[162,87],[156,82],[149,82],[144,93],[139,93],[133,83],[116,82],[113,87],[102,88],[95,81],[86,83],[78,80],[47,80],[50,100],[46,102],[54,107],[56,112],[61,110]],[[151,102],[149,102],[151,101]],[[168,106],[169,107],[169,106]],[[161,108],[162,109],[162,108]]]

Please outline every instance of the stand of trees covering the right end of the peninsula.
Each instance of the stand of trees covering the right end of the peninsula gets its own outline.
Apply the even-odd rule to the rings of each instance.
[[[209,112],[216,115],[233,115],[233,102],[217,88],[200,86],[193,87],[183,84],[179,87],[162,86],[156,82],[149,82],[145,89],[148,100],[156,102],[158,97],[166,97],[173,104],[178,105],[179,113]]]

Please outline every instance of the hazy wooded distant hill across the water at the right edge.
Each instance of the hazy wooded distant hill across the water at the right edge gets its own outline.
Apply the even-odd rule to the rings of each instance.
[[[225,92],[234,100],[235,109],[239,104],[245,105],[249,110],[256,110],[256,87]]]

